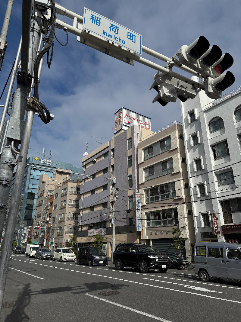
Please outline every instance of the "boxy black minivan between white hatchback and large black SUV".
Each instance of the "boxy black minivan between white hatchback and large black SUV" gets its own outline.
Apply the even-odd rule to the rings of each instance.
[[[108,260],[100,247],[80,247],[77,256],[77,264],[106,266]]]

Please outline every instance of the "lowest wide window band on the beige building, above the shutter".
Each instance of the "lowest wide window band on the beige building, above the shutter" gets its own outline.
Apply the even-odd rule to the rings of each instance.
[[[151,211],[147,213],[147,227],[178,224],[177,208]]]

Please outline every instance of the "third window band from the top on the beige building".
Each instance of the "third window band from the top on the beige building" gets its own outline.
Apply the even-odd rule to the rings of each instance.
[[[146,195],[146,203],[158,201],[162,199],[174,198],[176,196],[175,183],[160,185],[144,191]]]

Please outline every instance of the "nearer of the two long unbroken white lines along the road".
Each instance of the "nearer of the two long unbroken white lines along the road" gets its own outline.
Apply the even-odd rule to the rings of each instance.
[[[13,260],[16,260],[15,258],[13,258]],[[22,261],[25,262],[25,260],[17,260],[17,261]],[[27,262],[29,263],[29,262]],[[67,268],[62,268],[62,267],[56,267],[56,266],[49,266],[49,265],[44,265],[44,264],[39,264],[39,263],[30,263],[30,264],[35,264],[35,265],[41,265],[41,266],[46,266],[46,267],[52,267],[52,268],[57,268],[59,270],[68,270]],[[120,281],[124,281],[124,282],[129,282],[129,283],[135,283],[135,284],[139,284],[139,285],[146,285],[146,286],[151,286],[151,287],[156,287],[158,289],[168,289],[170,291],[175,291],[175,292],[181,292],[181,293],[187,293],[187,294],[193,294],[193,295],[198,295],[198,296],[203,296],[205,298],[214,298],[217,300],[222,300],[222,301],[227,301],[227,302],[234,302],[234,303],[241,303],[241,301],[234,301],[234,300],[229,300],[226,298],[216,298],[214,296],[210,296],[210,295],[204,295],[204,294],[199,294],[199,293],[193,293],[193,292],[187,292],[187,291],[182,291],[179,289],[169,289],[167,287],[162,287],[162,286],[157,286],[157,285],[152,285],[152,284],[146,284],[146,283],[140,283],[140,282],[135,282],[135,281],[130,281],[128,279],[118,279],[117,277],[111,277],[111,276],[105,276],[105,275],[99,275],[99,274],[93,274],[93,273],[87,273],[87,272],[81,272],[79,270],[68,270],[71,272],[76,272],[76,273],[81,273],[81,274],[87,274],[87,275],[93,275],[93,276],[99,276],[99,277],[106,277],[108,279],[116,279],[116,280],[120,280]]]

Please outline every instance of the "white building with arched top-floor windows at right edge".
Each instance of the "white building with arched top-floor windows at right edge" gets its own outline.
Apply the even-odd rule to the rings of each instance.
[[[196,241],[241,242],[241,87],[181,111]]]

